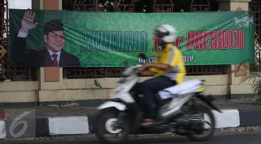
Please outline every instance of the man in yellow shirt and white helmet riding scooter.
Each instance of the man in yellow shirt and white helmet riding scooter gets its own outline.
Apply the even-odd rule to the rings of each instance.
[[[148,126],[153,124],[149,117],[152,108],[154,93],[175,84],[183,82],[186,69],[182,60],[182,53],[179,48],[173,46],[177,32],[173,26],[164,24],[155,28],[157,42],[161,46],[161,51],[157,54],[155,63],[146,63],[136,70],[143,76],[154,76],[150,80],[139,83],[139,93],[143,94],[143,113],[144,119],[141,125]]]

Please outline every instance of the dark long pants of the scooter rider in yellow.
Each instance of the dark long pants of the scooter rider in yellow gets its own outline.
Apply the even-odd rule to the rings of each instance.
[[[168,87],[172,87],[175,84],[175,81],[171,80],[165,75],[161,75],[156,78],[145,80],[144,82],[141,82],[137,85],[137,92],[143,94],[142,108],[144,112],[144,118],[149,118],[151,115],[154,94]]]

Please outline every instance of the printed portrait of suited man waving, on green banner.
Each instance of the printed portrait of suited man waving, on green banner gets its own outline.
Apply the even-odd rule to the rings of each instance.
[[[79,57],[63,50],[65,33],[63,23],[59,19],[47,21],[43,26],[45,48],[35,50],[29,48],[26,53],[26,43],[29,30],[38,26],[34,22],[35,12],[27,10],[22,19],[22,26],[14,37],[11,48],[11,60],[15,66],[45,67],[45,66],[81,66]]]

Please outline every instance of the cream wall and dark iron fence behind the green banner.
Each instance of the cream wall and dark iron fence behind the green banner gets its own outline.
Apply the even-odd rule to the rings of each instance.
[[[120,0],[119,0],[120,1]],[[258,4],[251,4],[250,0],[191,0],[188,4],[173,1],[153,0],[146,8],[143,3],[129,1],[118,3],[116,0],[111,8],[101,7],[97,0],[31,0],[31,8],[34,10],[107,10],[116,12],[180,12],[180,11],[255,11],[255,31],[261,35],[260,16]],[[254,1],[255,2],[255,1]],[[117,3],[117,4],[116,4]],[[219,8],[212,6],[217,3]],[[104,3],[102,3],[104,4]],[[173,6],[179,5],[180,8]],[[182,8],[183,6],[183,8]],[[184,8],[188,6],[188,8]],[[8,1],[1,3],[1,34],[6,35],[1,39],[1,46],[8,51]],[[143,10],[144,9],[144,10]],[[258,15],[258,16],[257,16]],[[260,40],[260,39],[259,39]],[[260,42],[260,41],[259,41]],[[212,65],[212,66],[187,66],[189,79],[206,80],[206,93],[221,98],[238,98],[240,96],[253,96],[251,82],[241,82],[244,69],[235,69],[237,65]],[[234,71],[235,73],[231,73]],[[64,102],[87,102],[86,105],[97,104],[97,101],[106,99],[110,89],[116,87],[120,77],[120,68],[12,68],[8,66],[8,55],[4,55],[1,61],[0,78],[0,105],[39,104],[49,105]],[[143,78],[145,80],[147,78]]]

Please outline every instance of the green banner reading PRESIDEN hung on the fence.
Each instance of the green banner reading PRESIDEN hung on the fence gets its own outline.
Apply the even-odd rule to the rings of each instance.
[[[10,10],[11,66],[117,67],[154,62],[153,30],[171,24],[189,65],[255,61],[253,12],[127,13]]]

